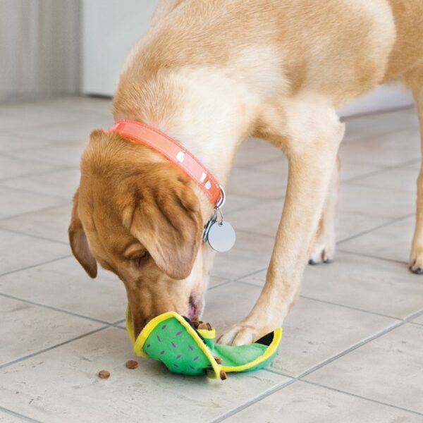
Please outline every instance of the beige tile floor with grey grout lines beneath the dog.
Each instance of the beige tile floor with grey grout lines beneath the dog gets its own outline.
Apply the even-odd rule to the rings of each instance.
[[[407,271],[419,135],[412,109],[348,120],[338,255],[310,266],[268,369],[228,381],[134,358],[125,292],[88,278],[67,243],[78,159],[110,102],[0,106],[0,422],[423,422],[423,276]],[[204,318],[221,332],[264,283],[286,159],[245,143],[228,187],[235,248],[216,259]],[[99,380],[99,369],[111,377]]]

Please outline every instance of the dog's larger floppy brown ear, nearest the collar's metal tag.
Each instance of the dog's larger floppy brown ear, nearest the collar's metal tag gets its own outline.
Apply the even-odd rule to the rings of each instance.
[[[123,224],[161,271],[174,279],[188,277],[202,242],[200,202],[188,178],[172,164],[154,164],[133,192]]]

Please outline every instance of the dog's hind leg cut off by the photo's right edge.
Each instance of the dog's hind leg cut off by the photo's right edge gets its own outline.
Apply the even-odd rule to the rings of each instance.
[[[412,82],[415,82],[415,78],[412,78]],[[421,148],[423,154],[423,68],[419,82],[421,82],[421,85],[419,88],[413,90],[413,94],[415,97],[417,114],[419,115],[420,134],[422,139]],[[417,178],[417,214],[415,234],[411,247],[410,270],[417,274],[423,274],[423,158],[422,167],[420,168],[419,177]]]

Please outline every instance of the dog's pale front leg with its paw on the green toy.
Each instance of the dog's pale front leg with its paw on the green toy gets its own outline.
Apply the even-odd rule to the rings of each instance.
[[[311,130],[309,140],[301,137],[304,127],[289,136],[285,146],[288,188],[266,283],[250,314],[225,333],[220,343],[252,343],[273,331],[298,297],[345,128],[334,114],[329,116],[328,125],[322,129],[319,122],[320,128]]]

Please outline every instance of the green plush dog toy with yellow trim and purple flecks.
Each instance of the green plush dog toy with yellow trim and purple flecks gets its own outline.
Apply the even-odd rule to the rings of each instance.
[[[250,345],[216,345],[214,329],[195,329],[190,319],[175,312],[155,317],[134,338],[129,307],[126,330],[138,357],[159,360],[174,373],[226,379],[227,372],[252,372],[271,362],[281,342],[282,328]]]

